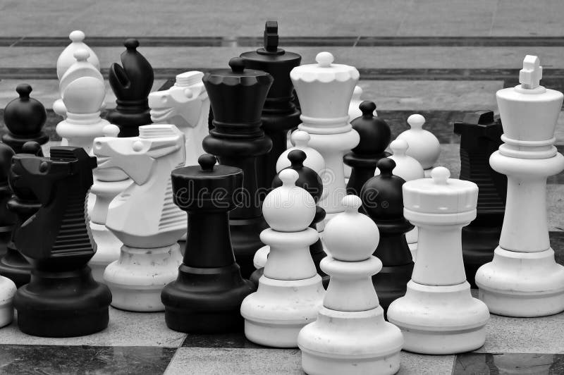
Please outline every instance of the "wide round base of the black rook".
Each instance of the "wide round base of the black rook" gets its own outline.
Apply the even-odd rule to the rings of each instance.
[[[161,293],[166,325],[185,333],[241,332],[241,302],[255,290],[241,277],[237,264],[217,268],[181,264],[176,281]]]

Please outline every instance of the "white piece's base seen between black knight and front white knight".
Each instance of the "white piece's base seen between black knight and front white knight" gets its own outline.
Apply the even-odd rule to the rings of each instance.
[[[94,280],[104,283],[104,270],[108,264],[119,259],[123,243],[102,224],[90,221],[90,230],[92,230],[92,238],[96,242],[97,250],[88,265],[92,269]]]

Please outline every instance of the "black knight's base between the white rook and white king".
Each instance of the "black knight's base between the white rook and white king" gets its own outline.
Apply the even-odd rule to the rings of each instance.
[[[462,228],[462,259],[466,279],[472,288],[478,288],[474,281],[478,269],[494,259],[500,236],[501,227],[470,225]]]

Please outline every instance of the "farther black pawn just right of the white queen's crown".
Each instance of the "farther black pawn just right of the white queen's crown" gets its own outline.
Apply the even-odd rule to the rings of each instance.
[[[374,177],[376,164],[382,158],[390,156],[386,147],[390,145],[391,130],[386,121],[374,117],[376,104],[364,101],[359,106],[362,116],[350,122],[360,135],[357,147],[343,156],[345,164],[352,168],[347,183],[347,194],[359,195],[362,185]]]

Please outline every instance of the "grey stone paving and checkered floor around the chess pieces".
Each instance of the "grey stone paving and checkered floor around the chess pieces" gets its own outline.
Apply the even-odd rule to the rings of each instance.
[[[312,63],[331,51],[359,68],[363,98],[376,101],[394,134],[420,112],[441,140],[441,159],[458,176],[452,122],[466,111],[496,111],[495,92],[515,85],[525,54],[537,54],[543,84],[564,91],[564,1],[560,0],[309,0],[309,1],[0,1],[0,113],[16,85],[28,82],[49,112],[51,144],[60,118],[55,63],[80,29],[102,73],[119,61],[125,37],[138,37],[155,70],[154,90],[176,73],[226,67],[262,43],[266,19],[276,19],[281,47]],[[107,107],[115,97],[108,90]],[[1,116],[0,116],[1,117]],[[0,118],[0,125],[1,123]],[[0,128],[0,133],[4,132]],[[564,151],[564,115],[556,133]],[[564,260],[564,175],[548,185],[551,239]],[[476,353],[403,353],[403,374],[564,373],[563,314],[545,319],[492,316],[486,345]],[[111,310],[111,326],[72,340],[30,338],[15,324],[0,331],[0,373],[300,373],[298,350],[271,350],[242,336],[202,338],[168,330],[162,314]],[[45,345],[45,346],[39,346]],[[57,345],[57,346],[54,346]],[[169,365],[170,364],[170,365]],[[505,371],[505,372],[504,372]],[[512,372],[513,373],[513,372]]]

